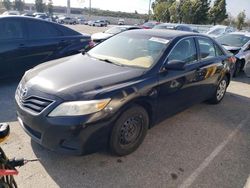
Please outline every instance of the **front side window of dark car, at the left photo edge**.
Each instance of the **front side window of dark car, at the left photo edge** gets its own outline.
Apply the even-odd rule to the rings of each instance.
[[[22,39],[24,31],[22,22],[19,20],[1,20],[0,22],[0,39]]]

